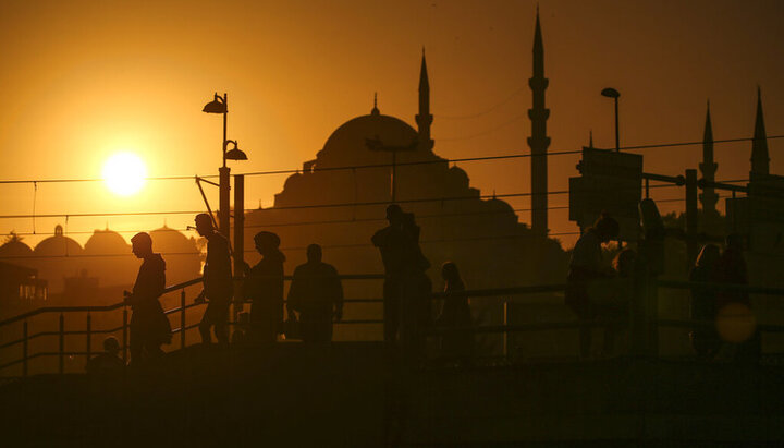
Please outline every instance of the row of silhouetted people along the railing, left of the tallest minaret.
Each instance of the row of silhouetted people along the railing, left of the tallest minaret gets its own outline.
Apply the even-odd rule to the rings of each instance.
[[[400,343],[400,348],[413,356],[424,344],[424,330],[433,323],[431,318],[432,286],[426,270],[430,263],[419,246],[419,227],[414,215],[404,213],[400,206],[387,209],[389,226],[372,237],[384,265],[384,339]],[[203,344],[230,343],[229,315],[234,303],[235,279],[232,276],[231,246],[228,239],[215,229],[212,217],[199,214],[195,218],[196,231],[207,240],[204,266],[204,288],[196,302],[207,302],[199,332]],[[152,251],[152,240],[140,232],[131,239],[133,254],[143,261],[136,282],[125,292],[125,303],[132,308],[130,323],[131,365],[155,363],[163,355],[162,344],[171,342],[171,326],[159,298],[166,289],[166,262]],[[307,247],[307,263],[294,269],[287,300],[284,306],[283,263],[280,238],[262,231],[254,237],[261,259],[253,267],[242,266],[243,295],[252,302],[248,326],[235,330],[235,336],[255,346],[271,344],[284,332],[284,307],[287,324],[295,323],[298,335],[306,343],[326,343],[332,340],[332,325],[343,317],[343,286],[338,270],[322,262],[318,244]],[[439,324],[467,327],[471,324],[468,299],[463,280],[454,263],[446,263],[442,276],[448,298],[444,301]],[[454,293],[454,294],[452,294]],[[242,308],[242,303],[237,303]],[[113,342],[112,342],[113,341]],[[466,331],[451,331],[443,337],[444,352],[456,358],[468,356],[473,336]],[[117,339],[107,339],[107,352],[90,360],[90,370],[103,365],[115,366]],[[107,361],[110,360],[110,361]]]

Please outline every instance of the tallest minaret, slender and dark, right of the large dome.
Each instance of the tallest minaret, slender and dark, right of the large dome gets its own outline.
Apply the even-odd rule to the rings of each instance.
[[[548,183],[547,183],[547,149],[550,137],[547,136],[547,119],[550,109],[544,108],[544,90],[549,80],[544,77],[544,46],[539,25],[539,7],[537,5],[536,31],[534,32],[534,76],[528,80],[534,105],[528,109],[531,120],[531,136],[528,146],[531,148],[531,229],[546,235],[548,233]]]

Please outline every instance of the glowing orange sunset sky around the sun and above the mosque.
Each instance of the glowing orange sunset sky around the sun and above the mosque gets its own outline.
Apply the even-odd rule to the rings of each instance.
[[[699,141],[710,98],[715,138],[751,136],[762,87],[769,135],[784,134],[784,2],[541,1],[550,78],[551,150],[578,149],[593,130],[613,144],[621,92],[622,145]],[[118,150],[137,153],[149,175],[210,174],[221,122],[203,113],[229,94],[229,137],[249,157],[234,172],[297,168],[330,133],[365,114],[414,124],[427,48],[434,150],[458,158],[529,149],[534,1],[9,1],[0,2],[0,179],[100,178]],[[772,172],[784,173],[781,140]],[[716,178],[746,179],[750,143],[716,145]],[[697,168],[700,146],[649,149],[645,170]],[[550,158],[550,189],[565,190],[578,156]],[[461,164],[482,193],[530,190],[526,159]],[[246,180],[246,207],[271,205],[283,175]],[[213,190],[213,189],[212,189]],[[217,203],[217,192],[210,197]],[[678,189],[654,197],[682,197]],[[38,184],[37,214],[200,210],[193,181],[148,182],[120,198],[102,183]],[[511,201],[528,207],[527,198]],[[566,205],[553,195],[550,205]],[[0,185],[0,214],[30,214],[33,185]],[[670,210],[681,207],[662,205]],[[553,232],[574,231],[566,210]],[[192,216],[168,216],[184,228]],[[528,222],[527,213],[520,220]],[[84,241],[95,228],[160,227],[156,217],[38,218]],[[32,219],[0,219],[0,233]],[[130,234],[124,234],[126,238]],[[26,237],[35,243],[39,237]]]

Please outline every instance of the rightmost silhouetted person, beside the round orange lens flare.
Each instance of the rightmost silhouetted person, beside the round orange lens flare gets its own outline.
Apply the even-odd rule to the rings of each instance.
[[[748,269],[743,255],[743,237],[731,233],[726,238],[726,247],[716,261],[716,280],[721,283],[748,284]],[[732,310],[728,314],[751,314],[751,300],[745,291],[719,291],[716,294],[716,314]],[[751,336],[737,346],[735,359],[757,361],[761,354],[761,336],[754,329]]]

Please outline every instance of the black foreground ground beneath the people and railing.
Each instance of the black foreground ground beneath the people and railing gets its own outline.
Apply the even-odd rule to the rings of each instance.
[[[393,368],[328,353],[197,348],[109,383],[0,387],[0,446],[784,446],[784,368],[620,359]]]

